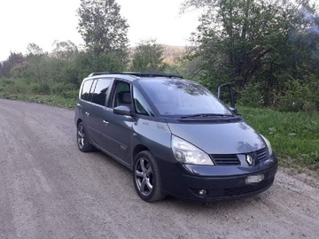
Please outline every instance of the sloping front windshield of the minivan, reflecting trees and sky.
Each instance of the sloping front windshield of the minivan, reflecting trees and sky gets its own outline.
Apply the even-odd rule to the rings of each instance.
[[[139,84],[161,115],[232,115],[206,88],[177,79],[142,79]]]

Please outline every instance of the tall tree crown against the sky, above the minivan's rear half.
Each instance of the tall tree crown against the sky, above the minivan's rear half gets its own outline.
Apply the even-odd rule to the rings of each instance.
[[[95,54],[126,51],[128,24],[114,0],[81,0],[78,31]]]

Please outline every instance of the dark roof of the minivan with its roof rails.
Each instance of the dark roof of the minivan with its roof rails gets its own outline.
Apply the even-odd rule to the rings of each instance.
[[[106,77],[121,78],[127,81],[135,81],[141,78],[154,79],[154,78],[167,78],[167,79],[183,79],[182,75],[173,74],[173,73],[137,73],[137,72],[119,72],[119,73],[110,73],[110,72],[95,72],[90,73],[86,79],[96,79]]]

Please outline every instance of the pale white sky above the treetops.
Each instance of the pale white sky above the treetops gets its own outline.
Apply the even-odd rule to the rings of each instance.
[[[54,41],[70,40],[83,45],[78,33],[76,10],[80,0],[1,0],[0,61],[10,52],[27,52],[27,44],[35,43],[51,51]],[[191,32],[198,26],[198,12],[179,14],[183,0],[116,0],[121,16],[128,21],[131,46],[141,40],[187,45]]]

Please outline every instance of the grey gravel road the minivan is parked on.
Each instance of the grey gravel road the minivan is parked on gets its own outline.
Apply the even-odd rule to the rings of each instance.
[[[256,197],[147,204],[128,169],[77,149],[66,109],[0,99],[0,152],[0,238],[319,238],[314,178],[279,169]]]

